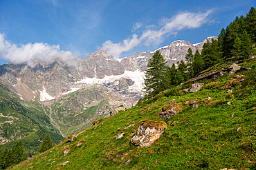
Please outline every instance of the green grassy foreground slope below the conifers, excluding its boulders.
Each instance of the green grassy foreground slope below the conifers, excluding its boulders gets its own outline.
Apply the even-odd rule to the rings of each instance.
[[[244,65],[253,63],[255,59]],[[216,82],[203,81],[203,88],[195,93],[183,92],[191,84],[168,89],[140,101],[137,107],[100,119],[98,125],[77,134],[75,141],[61,142],[15,169],[253,169],[256,70],[237,75],[241,74],[244,81],[228,74]],[[227,93],[227,89],[232,92]],[[196,100],[199,107],[190,107],[191,100]],[[139,121],[163,121],[158,114],[167,105],[176,105],[180,111],[164,120],[167,129],[161,138],[150,147],[132,145],[130,139],[136,134]],[[124,137],[116,139],[120,133],[125,133]],[[77,147],[77,142],[83,144]],[[71,151],[63,156],[67,148]],[[69,162],[61,165],[66,161]]]

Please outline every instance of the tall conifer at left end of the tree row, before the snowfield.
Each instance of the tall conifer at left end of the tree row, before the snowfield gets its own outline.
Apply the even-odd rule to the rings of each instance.
[[[161,53],[157,50],[149,63],[145,72],[145,93],[147,96],[154,96],[167,89],[167,65]]]

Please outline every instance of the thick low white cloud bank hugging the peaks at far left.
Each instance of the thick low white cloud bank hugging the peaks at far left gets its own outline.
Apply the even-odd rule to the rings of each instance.
[[[14,64],[31,63],[33,60],[45,62],[61,58],[63,61],[73,59],[74,55],[69,51],[60,50],[60,45],[48,45],[47,43],[28,43],[19,47],[12,44],[0,33],[0,59],[6,59]]]

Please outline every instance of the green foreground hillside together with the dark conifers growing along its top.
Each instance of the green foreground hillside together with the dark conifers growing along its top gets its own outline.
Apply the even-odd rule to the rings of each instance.
[[[73,140],[68,137],[14,169],[255,169],[256,32],[250,31],[249,23],[244,24],[249,19],[253,23],[255,15],[255,8],[251,8],[246,17],[236,18],[221,30],[222,38],[205,43],[201,54],[189,50],[188,62],[179,62],[177,68],[166,67],[156,51],[146,71],[147,78],[155,79],[145,81],[147,95],[136,107],[95,120]],[[232,50],[247,52],[247,48],[236,45],[238,39],[231,39],[231,35],[246,36],[243,25],[253,50],[237,55]],[[221,44],[227,40],[232,45]],[[161,61],[161,67],[156,60]],[[238,63],[235,71],[234,63]],[[205,76],[197,82],[201,89],[191,92],[191,75],[221,69],[224,71],[216,77]],[[163,119],[161,114],[170,108],[176,109],[174,114]],[[166,125],[149,147],[131,142],[143,121]]]

